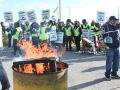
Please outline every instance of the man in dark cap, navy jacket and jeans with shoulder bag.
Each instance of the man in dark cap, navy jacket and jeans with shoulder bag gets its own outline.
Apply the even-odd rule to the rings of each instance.
[[[115,16],[111,16],[109,18],[109,23],[104,25],[105,34],[103,35],[103,39],[106,45],[107,57],[105,78],[108,81],[110,81],[111,78],[120,79],[120,77],[117,75],[117,71],[119,69],[120,30],[119,25],[116,24],[116,20],[117,19]]]

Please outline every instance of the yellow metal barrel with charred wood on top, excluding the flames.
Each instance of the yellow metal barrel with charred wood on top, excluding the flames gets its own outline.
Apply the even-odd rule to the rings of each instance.
[[[20,66],[20,64],[44,62],[50,62],[50,66],[53,66],[51,66],[49,73],[31,74],[15,70],[15,68],[17,69]],[[54,58],[13,62],[13,90],[67,90],[68,65],[61,62],[62,70],[59,70],[59,68],[54,68],[53,63],[55,63],[56,67],[59,62],[56,62]]]

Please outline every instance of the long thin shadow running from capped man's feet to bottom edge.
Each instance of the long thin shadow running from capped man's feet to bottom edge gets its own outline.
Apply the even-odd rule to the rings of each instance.
[[[89,86],[92,86],[92,85],[95,85],[97,83],[101,83],[101,82],[104,82],[104,81],[105,81],[105,78],[100,78],[100,79],[96,79],[96,80],[91,81],[91,82],[87,82],[87,83],[75,85],[75,86],[72,86],[72,87],[68,87],[68,90],[83,89],[83,88],[86,88],[86,87],[89,87]]]

